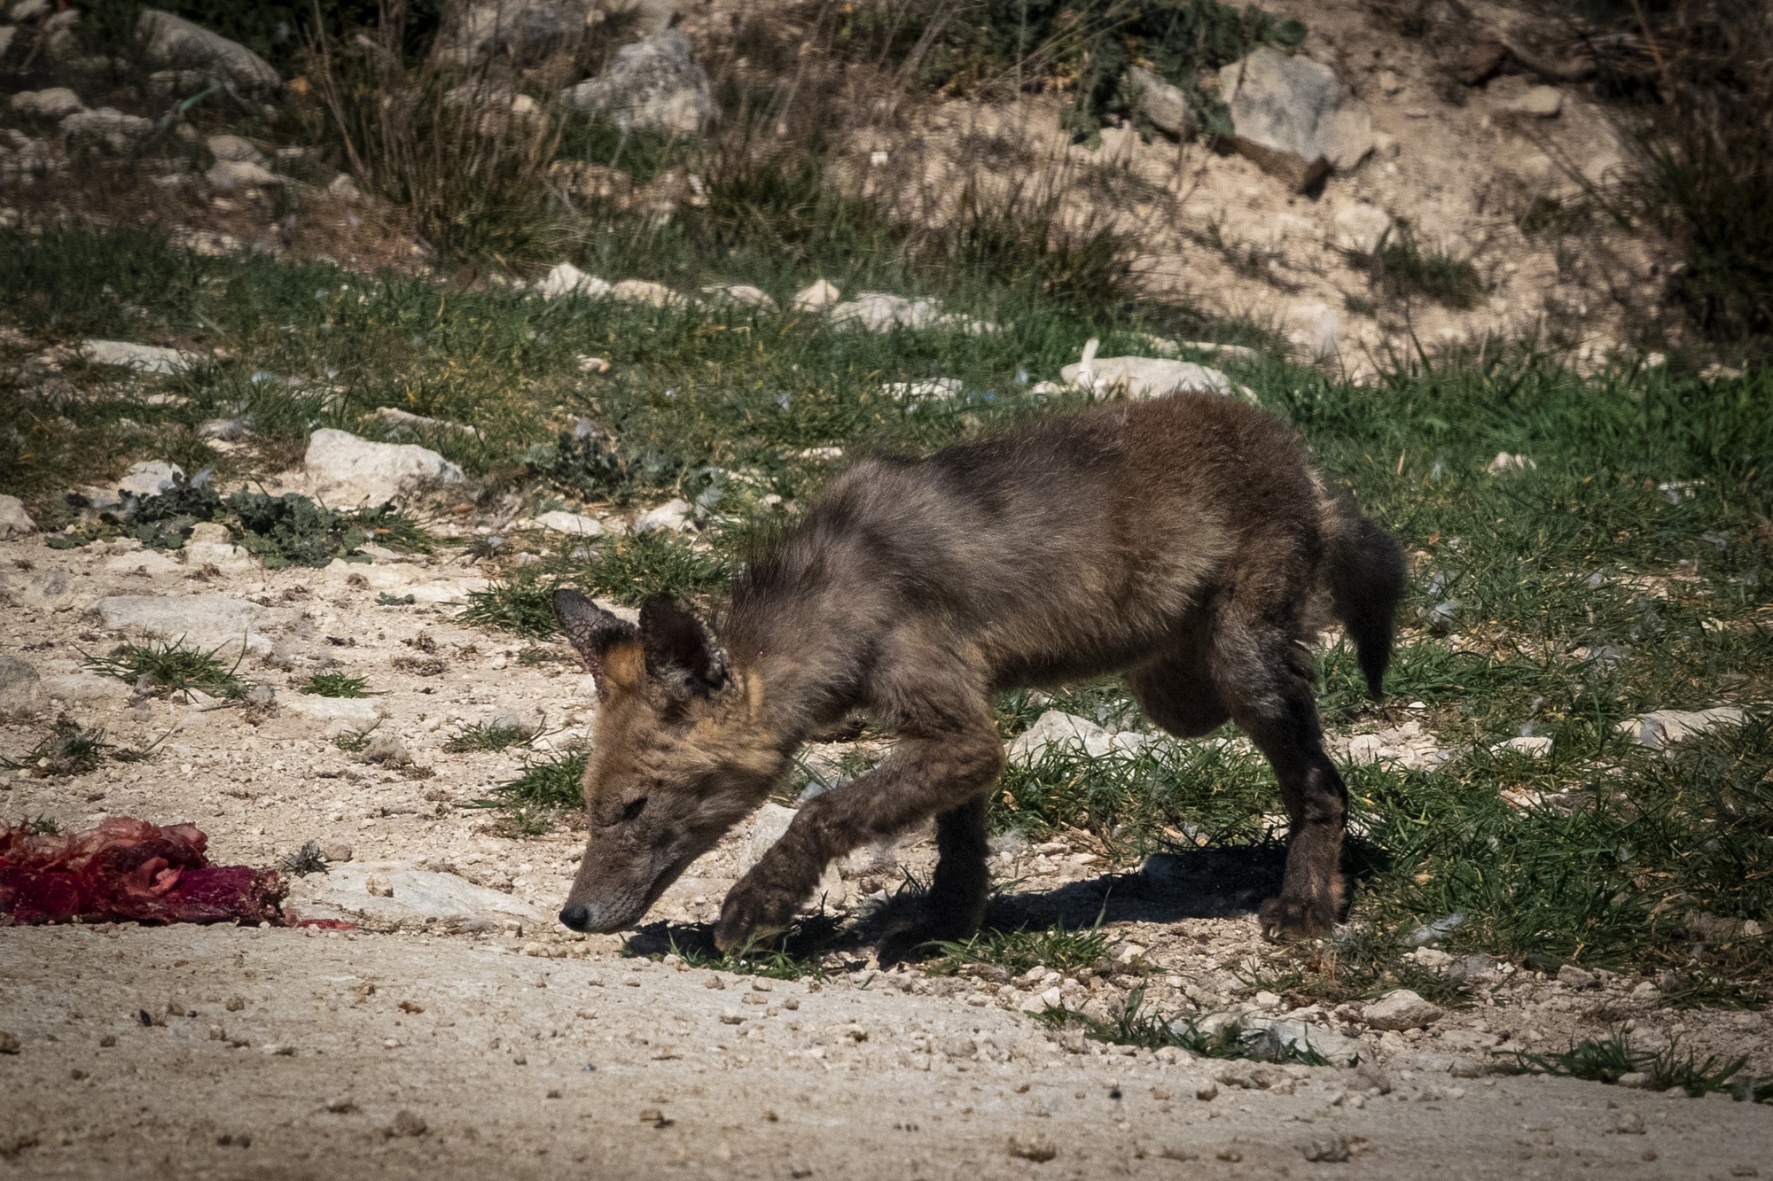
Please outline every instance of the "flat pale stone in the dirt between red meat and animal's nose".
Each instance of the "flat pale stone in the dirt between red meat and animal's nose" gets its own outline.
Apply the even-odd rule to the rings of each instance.
[[[372,880],[388,894],[371,892]],[[348,919],[372,929],[546,924],[523,899],[404,862],[333,864],[324,874],[296,878],[289,885],[289,908],[303,919]]]

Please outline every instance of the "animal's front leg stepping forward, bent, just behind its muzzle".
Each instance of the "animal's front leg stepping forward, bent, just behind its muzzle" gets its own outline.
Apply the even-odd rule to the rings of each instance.
[[[968,803],[1002,764],[1004,747],[989,725],[902,736],[872,771],[801,807],[782,839],[727,894],[715,943],[734,950],[784,931],[832,858]]]

